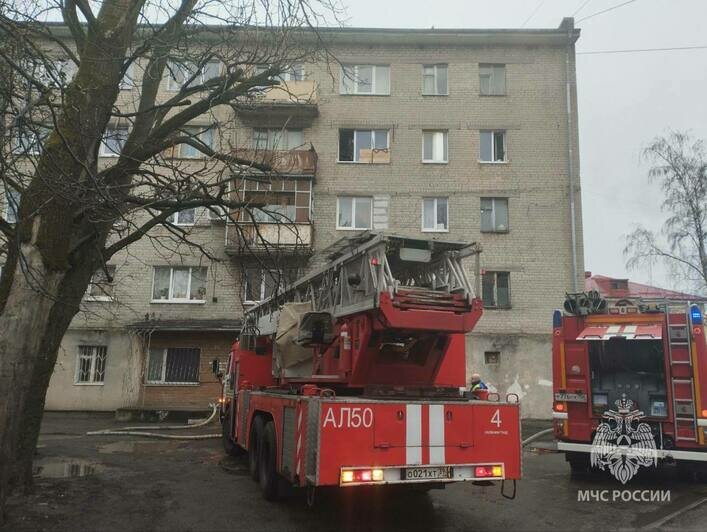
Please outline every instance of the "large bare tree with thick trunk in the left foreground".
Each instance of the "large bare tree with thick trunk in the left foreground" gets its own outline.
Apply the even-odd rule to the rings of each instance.
[[[186,209],[265,208],[232,186],[274,167],[231,145],[233,117],[326,56],[317,28],[339,14],[334,0],[2,2],[0,505],[31,483],[49,378],[91,277],[156,231],[198,248],[173,223]]]

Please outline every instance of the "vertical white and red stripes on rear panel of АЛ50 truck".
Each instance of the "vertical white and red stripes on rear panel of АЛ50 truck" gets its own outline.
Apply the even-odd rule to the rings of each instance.
[[[408,465],[446,463],[444,405],[408,404],[405,462]]]

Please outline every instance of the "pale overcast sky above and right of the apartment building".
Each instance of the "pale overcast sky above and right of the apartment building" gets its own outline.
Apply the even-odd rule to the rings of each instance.
[[[350,26],[554,28],[585,0],[344,0]],[[577,52],[707,46],[707,0],[589,0]],[[532,17],[531,17],[532,15]],[[528,18],[530,20],[528,20]],[[627,271],[624,235],[659,228],[661,194],[641,148],[669,128],[707,139],[707,49],[578,55],[585,269],[672,288],[662,268]]]

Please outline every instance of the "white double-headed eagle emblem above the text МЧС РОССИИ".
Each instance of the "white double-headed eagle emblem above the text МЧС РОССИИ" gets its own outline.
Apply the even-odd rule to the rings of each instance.
[[[645,414],[633,408],[633,401],[624,395],[614,403],[616,410],[602,416],[592,441],[591,464],[608,469],[614,477],[626,484],[643,467],[655,466],[658,453],[651,428],[640,420]]]

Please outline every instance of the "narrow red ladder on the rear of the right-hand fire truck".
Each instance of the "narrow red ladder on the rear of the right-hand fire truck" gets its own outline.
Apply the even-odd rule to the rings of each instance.
[[[697,441],[697,412],[695,410],[694,379],[690,342],[689,309],[671,313],[666,307],[668,334],[668,359],[673,397],[673,422],[675,439]],[[683,307],[684,309],[684,307]]]

